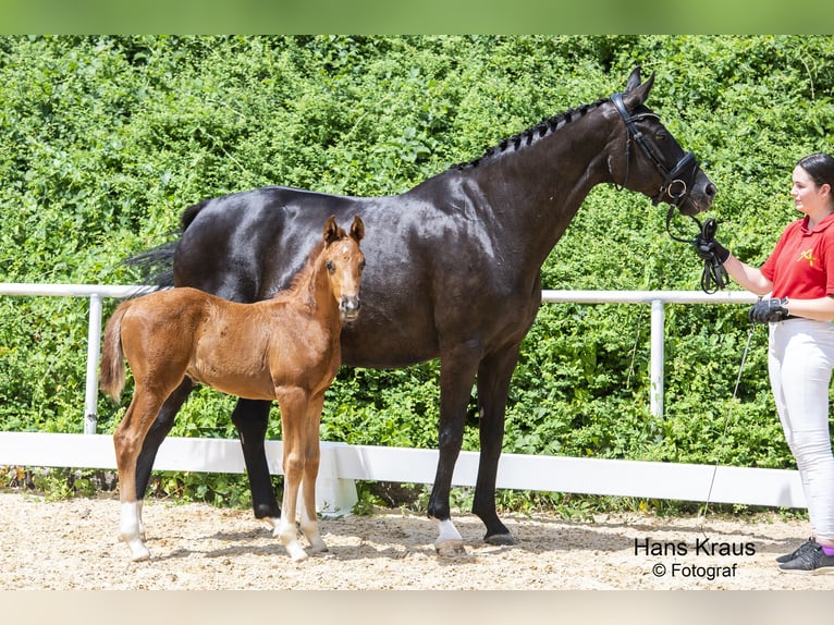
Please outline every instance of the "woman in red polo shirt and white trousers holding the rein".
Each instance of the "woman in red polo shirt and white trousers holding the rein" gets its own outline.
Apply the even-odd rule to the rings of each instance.
[[[834,368],[834,158],[814,154],[794,168],[790,195],[804,215],[782,233],[761,266],[720,243],[699,240],[741,286],[769,298],[750,320],[769,323],[768,370],[780,420],[799,468],[813,536],[776,559],[787,573],[834,573],[834,455],[829,383]]]

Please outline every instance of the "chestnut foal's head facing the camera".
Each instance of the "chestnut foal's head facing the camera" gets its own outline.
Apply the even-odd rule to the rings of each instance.
[[[365,224],[355,216],[351,233],[336,225],[335,216],[324,223],[322,261],[328,272],[333,296],[339,303],[342,321],[352,321],[359,315],[359,284],[365,268],[365,255],[359,242],[365,236]]]

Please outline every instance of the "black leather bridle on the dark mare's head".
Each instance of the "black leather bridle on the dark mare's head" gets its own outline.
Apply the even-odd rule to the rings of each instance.
[[[623,103],[623,94],[614,94],[611,96],[611,101],[614,103],[614,108],[623,118],[626,125],[626,173],[623,179],[622,185],[616,185],[617,188],[624,188],[626,182],[628,182],[628,174],[630,173],[631,166],[631,140],[634,139],[646,157],[654,163],[655,169],[663,176],[663,182],[658,189],[658,193],[651,198],[654,206],[661,201],[666,201],[671,206],[669,212],[666,212],[666,232],[674,240],[680,243],[689,243],[691,245],[708,244],[715,238],[715,230],[718,229],[718,222],[714,219],[708,219],[701,224],[694,216],[688,216],[689,219],[695,221],[698,225],[699,234],[696,238],[682,238],[672,234],[671,222],[674,216],[675,208],[678,208],[680,201],[689,195],[689,189],[695,182],[695,172],[698,169],[698,162],[695,160],[692,152],[686,152],[677,164],[671,170],[666,168],[663,161],[658,158],[657,146],[652,149],[652,144],[646,138],[646,136],[637,128],[636,122],[646,118],[653,118],[660,120],[657,114],[646,111],[637,113],[636,115],[628,114],[628,111]],[[689,185],[682,179],[682,172],[688,170]],[[715,293],[720,289],[724,289],[729,283],[726,269],[724,265],[713,255],[711,260],[704,260],[703,272],[701,273],[701,289],[704,293]]]

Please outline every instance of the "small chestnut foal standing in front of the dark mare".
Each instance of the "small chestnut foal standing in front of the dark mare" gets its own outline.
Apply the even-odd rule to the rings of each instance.
[[[304,504],[301,529],[312,551],[327,551],[316,522],[319,421],[324,391],[342,363],[343,320],[359,312],[365,259],[359,249],[363,222],[351,235],[331,217],[323,242],[289,291],[256,304],[221,299],[183,287],[121,304],[105,330],[101,389],[114,400],[124,388],[124,358],[136,388],[115,430],[121,537],[133,560],[147,560],[143,540],[136,459],[164,401],[187,379],[248,400],[278,400],[284,437],[284,514],[275,535],[295,561],[307,553],[298,542],[295,507]]]

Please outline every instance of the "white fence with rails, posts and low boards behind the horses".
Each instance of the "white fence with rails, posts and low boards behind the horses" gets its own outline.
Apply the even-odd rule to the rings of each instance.
[[[89,329],[84,434],[0,432],[0,466],[113,468],[112,439],[96,434],[96,397],[101,335],[101,302],[142,293],[139,286],[47,285],[0,283],[0,295],[88,297]],[[542,302],[578,304],[643,304],[651,306],[651,412],[663,414],[663,336],[666,304],[752,304],[741,292],[707,295],[699,291],[544,291]],[[317,499],[326,514],[343,514],[356,501],[354,480],[431,483],[437,450],[379,448],[322,442]],[[281,473],[281,442],[268,441],[270,471]],[[462,452],[453,476],[456,486],[474,486],[477,452]],[[236,440],[169,437],[155,468],[212,473],[244,473]],[[710,493],[710,485],[712,491]],[[503,454],[498,487],[804,507],[797,471],[712,465],[670,464],[602,458]]]

